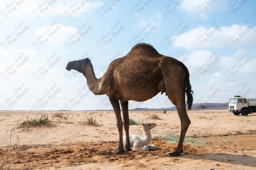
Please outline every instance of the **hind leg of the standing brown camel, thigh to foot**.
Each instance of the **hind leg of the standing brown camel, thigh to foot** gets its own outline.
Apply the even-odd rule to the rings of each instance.
[[[171,65],[171,66],[170,66]],[[180,140],[176,150],[173,153],[169,153],[171,156],[180,156],[182,151],[183,141],[186,135],[186,131],[190,125],[189,116],[186,112],[186,99],[185,99],[185,77],[186,73],[178,65],[175,65],[174,62],[169,64],[164,63],[160,65],[163,81],[166,88],[166,94],[169,100],[177,108],[178,115],[180,117],[181,131],[180,131]]]

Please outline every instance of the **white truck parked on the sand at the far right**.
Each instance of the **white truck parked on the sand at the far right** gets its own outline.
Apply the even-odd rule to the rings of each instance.
[[[249,113],[256,113],[256,98],[233,96],[229,99],[228,111],[238,116],[240,113],[247,116]]]

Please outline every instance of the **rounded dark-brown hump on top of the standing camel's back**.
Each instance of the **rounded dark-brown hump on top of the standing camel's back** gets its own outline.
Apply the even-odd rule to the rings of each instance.
[[[131,48],[131,51],[127,54],[128,56],[134,56],[134,55],[138,55],[141,54],[143,56],[147,56],[147,57],[158,57],[159,53],[157,52],[157,50],[149,44],[146,43],[139,43],[134,45],[133,48]]]

